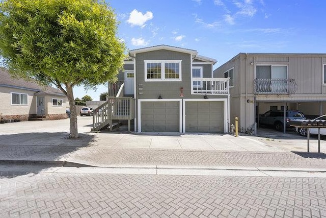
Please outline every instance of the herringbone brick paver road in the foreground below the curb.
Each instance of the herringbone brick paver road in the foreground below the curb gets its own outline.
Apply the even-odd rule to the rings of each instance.
[[[1,173],[2,217],[322,217],[325,178]]]

